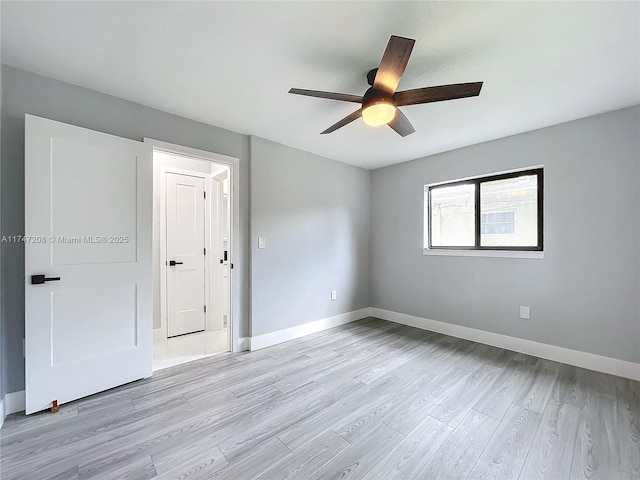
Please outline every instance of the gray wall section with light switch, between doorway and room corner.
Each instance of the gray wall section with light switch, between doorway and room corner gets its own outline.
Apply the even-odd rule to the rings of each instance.
[[[251,137],[252,335],[371,305],[370,185],[369,170]]]

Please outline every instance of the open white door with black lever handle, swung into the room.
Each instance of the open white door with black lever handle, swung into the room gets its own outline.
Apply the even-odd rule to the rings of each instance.
[[[26,413],[152,373],[151,147],[25,119]]]

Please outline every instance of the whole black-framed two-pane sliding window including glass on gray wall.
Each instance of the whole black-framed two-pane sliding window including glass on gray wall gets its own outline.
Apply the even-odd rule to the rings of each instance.
[[[542,168],[425,186],[425,247],[542,251]]]

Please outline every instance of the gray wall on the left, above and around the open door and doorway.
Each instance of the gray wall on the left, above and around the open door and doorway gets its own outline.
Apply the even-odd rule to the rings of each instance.
[[[3,66],[2,235],[24,234],[24,115],[38,115],[133,140],[151,137],[240,159],[240,336],[249,334],[249,138],[68,83]],[[211,108],[215,108],[212,105]],[[5,392],[24,389],[24,246],[2,244]]]

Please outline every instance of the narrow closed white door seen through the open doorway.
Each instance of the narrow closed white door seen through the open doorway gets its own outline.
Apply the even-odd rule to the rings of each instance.
[[[204,178],[167,173],[167,336],[205,329]]]

